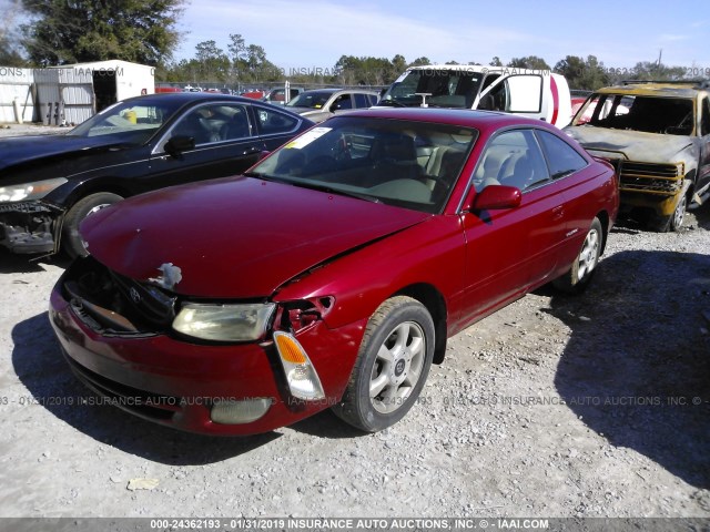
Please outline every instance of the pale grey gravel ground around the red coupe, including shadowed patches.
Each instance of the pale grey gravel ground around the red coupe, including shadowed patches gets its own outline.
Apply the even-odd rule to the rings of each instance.
[[[585,295],[544,287],[450,339],[376,434],[326,411],[215,439],[92,403],[47,318],[65,262],[0,253],[0,516],[710,523],[710,207],[689,218],[619,225]]]

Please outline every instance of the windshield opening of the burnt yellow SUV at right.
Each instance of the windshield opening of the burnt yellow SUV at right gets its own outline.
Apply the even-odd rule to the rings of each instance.
[[[572,125],[691,135],[693,102],[680,98],[594,94],[577,112]]]

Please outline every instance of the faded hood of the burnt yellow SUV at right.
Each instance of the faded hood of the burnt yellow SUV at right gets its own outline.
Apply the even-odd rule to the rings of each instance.
[[[677,163],[692,156],[694,145],[691,137],[661,135],[640,131],[610,130],[591,125],[565,129],[592,155],[606,158],[627,158],[646,163]],[[690,150],[689,150],[690,149]]]

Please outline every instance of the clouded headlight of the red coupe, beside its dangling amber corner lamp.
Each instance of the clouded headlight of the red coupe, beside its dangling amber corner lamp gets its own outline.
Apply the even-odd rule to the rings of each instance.
[[[275,308],[274,304],[186,303],[173,320],[173,329],[203,340],[254,341],[264,336]]]

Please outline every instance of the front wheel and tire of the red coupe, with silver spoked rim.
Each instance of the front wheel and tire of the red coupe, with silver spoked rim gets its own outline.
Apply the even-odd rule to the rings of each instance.
[[[336,416],[366,432],[386,429],[414,406],[429,374],[435,332],[416,299],[397,296],[373,314]]]

